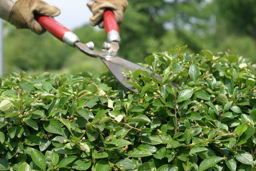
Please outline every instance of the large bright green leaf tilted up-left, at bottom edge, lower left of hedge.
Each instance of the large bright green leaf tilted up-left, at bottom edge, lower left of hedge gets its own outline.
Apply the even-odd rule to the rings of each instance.
[[[43,155],[43,153],[41,153],[40,151],[31,148],[30,150],[31,153],[31,158],[33,160],[33,162],[40,167],[40,169],[42,169],[43,171],[46,170],[46,158]]]

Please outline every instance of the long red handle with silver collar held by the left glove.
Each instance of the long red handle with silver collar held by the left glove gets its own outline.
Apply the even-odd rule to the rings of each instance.
[[[52,17],[37,15],[36,20],[41,26],[52,33],[52,35],[72,47],[79,41],[77,35],[72,33],[68,28],[57,22]]]

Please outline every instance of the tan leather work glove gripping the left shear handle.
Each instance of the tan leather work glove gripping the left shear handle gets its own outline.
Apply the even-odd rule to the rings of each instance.
[[[29,28],[36,34],[42,34],[45,29],[36,21],[35,14],[58,16],[60,10],[41,0],[19,0],[12,8],[8,21],[17,28]]]

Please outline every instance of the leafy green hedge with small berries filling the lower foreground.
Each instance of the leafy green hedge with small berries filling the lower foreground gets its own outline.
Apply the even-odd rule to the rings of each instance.
[[[185,48],[145,59],[163,80],[124,71],[139,93],[109,73],[6,75],[0,171],[254,170],[256,67]]]

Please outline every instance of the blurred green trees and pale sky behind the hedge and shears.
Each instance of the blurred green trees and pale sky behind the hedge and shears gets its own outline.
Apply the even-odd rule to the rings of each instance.
[[[71,28],[82,42],[93,41],[99,50],[104,30],[88,24],[88,0],[45,0],[62,10],[56,19]],[[201,49],[230,50],[256,62],[256,0],[128,0],[121,30],[119,56],[143,62],[152,52],[188,45],[188,53]],[[101,73],[107,69],[64,45],[49,33],[36,35],[4,23],[4,71],[28,73]]]

